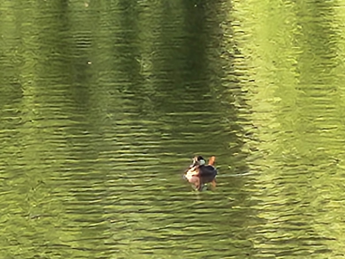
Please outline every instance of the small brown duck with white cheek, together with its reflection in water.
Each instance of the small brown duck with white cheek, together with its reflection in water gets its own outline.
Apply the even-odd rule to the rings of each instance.
[[[202,156],[195,156],[193,163],[185,172],[185,178],[188,182],[194,184],[196,190],[201,191],[205,183],[211,183],[213,187],[216,186],[217,170],[214,167],[216,157],[211,156],[208,160],[208,165],[205,165],[205,159]]]

